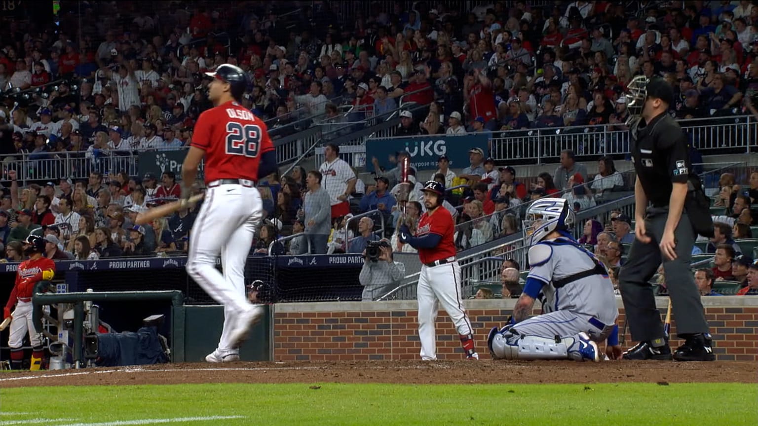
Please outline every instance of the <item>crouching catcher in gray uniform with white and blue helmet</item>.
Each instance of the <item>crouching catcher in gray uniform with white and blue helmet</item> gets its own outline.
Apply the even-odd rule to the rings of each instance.
[[[528,208],[523,228],[531,269],[509,324],[487,337],[493,359],[598,362],[597,342],[606,339],[609,357],[621,356],[613,284],[606,267],[568,233],[573,222],[565,199],[540,199]],[[543,314],[528,318],[537,299]]]

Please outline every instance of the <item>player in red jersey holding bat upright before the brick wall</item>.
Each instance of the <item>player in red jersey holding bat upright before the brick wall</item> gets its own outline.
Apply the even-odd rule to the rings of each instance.
[[[421,274],[418,276],[418,338],[421,340],[421,359],[437,359],[434,320],[439,302],[453,320],[466,358],[479,359],[474,348],[474,330],[461,303],[461,267],[456,260],[453,242],[453,216],[440,208],[445,194],[442,183],[424,183],[426,213],[418,221],[416,235],[411,236],[406,225],[400,227],[399,240],[418,249]]]

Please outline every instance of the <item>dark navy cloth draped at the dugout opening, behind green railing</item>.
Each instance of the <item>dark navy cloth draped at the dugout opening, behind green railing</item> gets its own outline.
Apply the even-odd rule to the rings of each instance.
[[[136,333],[98,334],[97,365],[151,365],[168,362],[155,327],[142,327]]]

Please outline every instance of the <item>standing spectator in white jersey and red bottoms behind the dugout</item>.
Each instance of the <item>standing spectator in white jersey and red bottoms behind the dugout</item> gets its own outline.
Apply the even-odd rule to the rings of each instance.
[[[318,169],[323,179],[321,186],[331,199],[331,218],[333,219],[341,218],[350,212],[348,199],[356,188],[356,173],[339,155],[340,147],[334,143],[327,143],[324,149],[325,161]]]

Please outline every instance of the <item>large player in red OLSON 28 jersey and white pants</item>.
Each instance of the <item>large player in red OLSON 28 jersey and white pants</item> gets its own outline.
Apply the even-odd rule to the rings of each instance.
[[[187,273],[217,302],[224,305],[224,330],[208,362],[240,359],[239,346],[249,327],[264,310],[245,294],[245,261],[255,229],[263,218],[255,182],[277,168],[276,152],[263,120],[240,102],[247,88],[243,70],[222,64],[207,73],[208,99],[214,108],[200,114],[182,168],[186,199],[205,157],[205,201],[189,233]],[[221,255],[224,274],[216,269]]]

